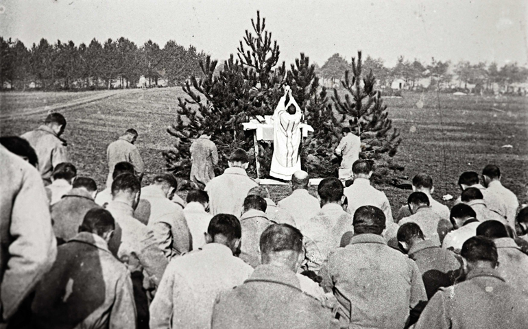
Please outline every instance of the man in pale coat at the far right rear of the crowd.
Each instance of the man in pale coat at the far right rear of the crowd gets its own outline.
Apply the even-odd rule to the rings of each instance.
[[[494,164],[488,164],[482,171],[486,191],[493,195],[494,199],[502,199],[506,206],[506,219],[509,226],[515,227],[515,215],[519,202],[517,196],[501,184],[501,169]]]

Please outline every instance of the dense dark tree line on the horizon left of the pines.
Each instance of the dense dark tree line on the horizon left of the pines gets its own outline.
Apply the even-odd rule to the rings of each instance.
[[[178,86],[189,76],[200,75],[205,56],[173,40],[160,48],[152,40],[136,45],[124,37],[102,44],[93,38],[78,46],[42,38],[28,49],[20,40],[0,36],[0,88],[25,90],[30,84],[41,90],[135,88],[142,75],[149,86],[157,86],[162,77],[167,85]]]

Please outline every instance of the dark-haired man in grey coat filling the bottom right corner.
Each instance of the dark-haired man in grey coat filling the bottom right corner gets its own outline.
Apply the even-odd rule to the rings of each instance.
[[[440,289],[415,329],[526,329],[528,300],[501,278],[493,241],[474,236],[464,242],[466,280]]]

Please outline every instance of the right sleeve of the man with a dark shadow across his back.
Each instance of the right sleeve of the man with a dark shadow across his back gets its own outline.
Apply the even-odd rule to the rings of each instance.
[[[136,328],[136,304],[130,273],[125,272],[116,284],[115,302],[110,312],[110,329]]]

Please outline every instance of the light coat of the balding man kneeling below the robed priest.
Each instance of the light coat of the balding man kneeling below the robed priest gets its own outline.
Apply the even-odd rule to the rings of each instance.
[[[298,188],[277,203],[278,208],[287,210],[295,219],[298,227],[305,226],[307,221],[321,210],[317,197],[310,195],[308,190]]]

